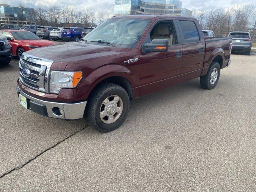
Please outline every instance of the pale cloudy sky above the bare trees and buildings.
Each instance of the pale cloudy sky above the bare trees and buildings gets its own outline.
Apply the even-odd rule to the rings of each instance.
[[[89,10],[107,13],[113,15],[115,0],[63,0],[64,6],[75,6],[78,9],[88,8]],[[62,0],[1,0],[1,3],[17,6],[19,3],[25,6],[62,6]],[[205,7],[211,8],[227,8],[234,4],[255,3],[255,0],[182,0],[182,8],[191,10],[192,8]]]

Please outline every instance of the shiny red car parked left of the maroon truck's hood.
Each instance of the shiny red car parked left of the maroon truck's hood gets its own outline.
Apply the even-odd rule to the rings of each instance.
[[[21,57],[23,52],[34,48],[54,45],[54,42],[42,40],[34,33],[23,30],[0,30],[0,36],[8,39],[12,46],[13,56]]]

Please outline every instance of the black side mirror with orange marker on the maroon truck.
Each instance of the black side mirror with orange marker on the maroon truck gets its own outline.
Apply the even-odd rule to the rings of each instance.
[[[167,39],[153,39],[151,43],[145,43],[146,52],[167,52],[169,41]]]

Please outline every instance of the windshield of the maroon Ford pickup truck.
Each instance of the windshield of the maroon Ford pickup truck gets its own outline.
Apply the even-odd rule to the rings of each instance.
[[[149,22],[146,19],[108,19],[88,33],[83,40],[88,43],[102,40],[116,47],[134,48]]]

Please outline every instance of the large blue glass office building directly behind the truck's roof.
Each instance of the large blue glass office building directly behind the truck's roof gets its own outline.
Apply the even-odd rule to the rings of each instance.
[[[192,16],[192,11],[182,9],[180,0],[116,0],[114,16],[129,14],[155,14]]]

